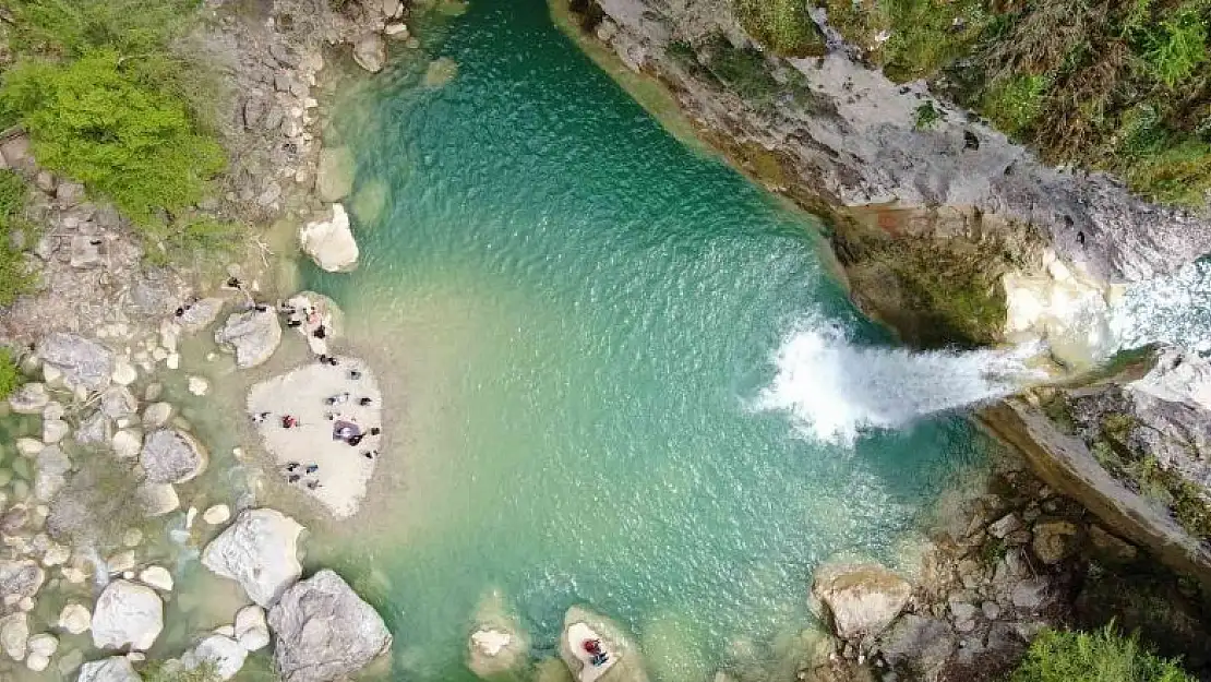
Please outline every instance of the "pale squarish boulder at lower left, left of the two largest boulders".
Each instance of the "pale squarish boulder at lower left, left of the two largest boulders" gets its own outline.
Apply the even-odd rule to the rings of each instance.
[[[92,614],[92,643],[97,648],[147,651],[163,630],[163,603],[155,590],[128,580],[114,580],[97,598]]]

